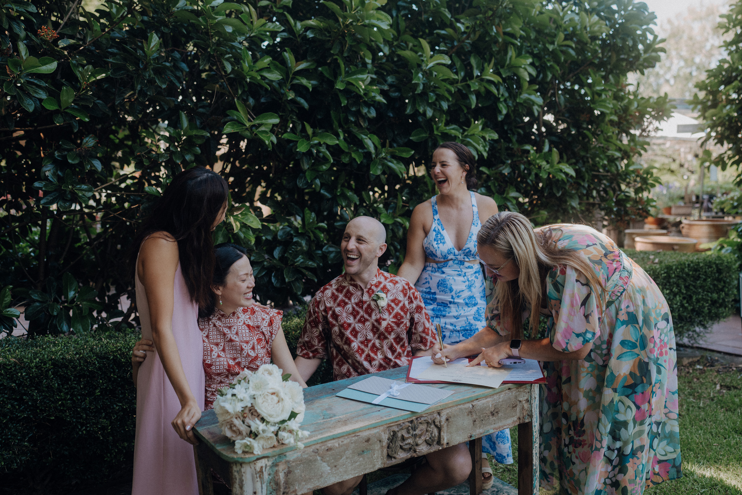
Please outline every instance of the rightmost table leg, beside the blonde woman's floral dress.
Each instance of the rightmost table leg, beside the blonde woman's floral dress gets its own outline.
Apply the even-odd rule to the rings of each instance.
[[[531,384],[531,421],[518,425],[518,495],[539,493],[539,389]]]

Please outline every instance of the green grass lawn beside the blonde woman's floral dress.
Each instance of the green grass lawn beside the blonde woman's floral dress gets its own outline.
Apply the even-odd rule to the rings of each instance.
[[[702,359],[698,362],[706,363]],[[720,364],[678,367],[683,477],[645,495],[742,495],[742,367]],[[511,428],[510,436],[517,445],[518,428]],[[495,476],[513,486],[518,483],[516,450],[516,463],[490,462]]]

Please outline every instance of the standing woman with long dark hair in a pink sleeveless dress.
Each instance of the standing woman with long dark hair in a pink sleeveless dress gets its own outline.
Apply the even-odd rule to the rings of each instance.
[[[137,373],[132,495],[197,495],[191,428],[203,410],[198,306],[209,303],[211,231],[224,220],[229,189],[203,167],[177,174],[145,220],[135,283],[142,338],[154,356]]]

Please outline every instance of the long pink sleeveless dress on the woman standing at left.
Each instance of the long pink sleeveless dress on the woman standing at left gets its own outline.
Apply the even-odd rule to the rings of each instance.
[[[152,339],[149,305],[139,276],[137,309],[142,338]],[[198,328],[198,306],[188,294],[180,263],[175,271],[173,335],[191,393],[203,410],[203,339]],[[160,355],[151,353],[137,377],[137,434],[134,440],[132,495],[198,495],[193,446],[175,433],[171,421],[180,401],[162,368]]]

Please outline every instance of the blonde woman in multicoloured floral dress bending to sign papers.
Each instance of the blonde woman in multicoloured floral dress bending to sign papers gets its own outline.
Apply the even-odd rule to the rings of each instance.
[[[488,327],[443,354],[480,353],[472,365],[490,367],[510,355],[543,361],[542,488],[642,494],[680,478],[672,316],[649,275],[587,226],[534,231],[523,215],[501,212],[477,241],[497,278]],[[521,341],[524,316],[536,330],[539,313],[549,337]]]

